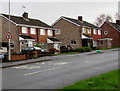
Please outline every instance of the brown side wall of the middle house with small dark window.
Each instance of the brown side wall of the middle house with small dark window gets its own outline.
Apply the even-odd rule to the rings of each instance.
[[[61,30],[61,33],[56,35],[56,38],[62,41],[61,46],[70,45],[74,49],[82,47],[81,27],[64,19],[58,21],[53,27]],[[76,40],[76,44],[71,44],[71,40]]]

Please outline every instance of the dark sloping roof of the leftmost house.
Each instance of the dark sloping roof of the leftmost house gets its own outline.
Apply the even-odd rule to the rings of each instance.
[[[7,14],[2,14],[6,18],[9,18],[9,15]],[[40,27],[47,27],[47,28],[52,28],[51,26],[47,25],[46,23],[38,20],[38,19],[31,19],[28,18],[29,21],[25,20],[23,17],[19,16],[13,16],[10,15],[11,21],[17,23],[17,24],[24,24],[24,25],[31,25],[31,26],[40,26]]]

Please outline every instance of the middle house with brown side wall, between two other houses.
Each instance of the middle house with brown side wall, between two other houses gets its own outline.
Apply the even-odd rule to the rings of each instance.
[[[61,46],[71,46],[73,49],[97,47],[98,39],[102,37],[102,29],[83,21],[82,16],[78,19],[62,16],[52,26],[58,29],[55,35],[62,42]]]

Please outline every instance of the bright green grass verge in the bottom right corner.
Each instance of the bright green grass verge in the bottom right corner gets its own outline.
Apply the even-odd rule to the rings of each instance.
[[[120,69],[99,75],[97,77],[82,80],[80,82],[77,82],[73,85],[64,87],[59,90],[64,91],[64,90],[81,89],[84,91],[87,89],[91,89],[91,90],[100,89],[101,91],[103,91],[106,89],[107,91],[109,90],[120,91],[120,89],[118,89],[118,74],[120,75],[118,71],[120,72]]]

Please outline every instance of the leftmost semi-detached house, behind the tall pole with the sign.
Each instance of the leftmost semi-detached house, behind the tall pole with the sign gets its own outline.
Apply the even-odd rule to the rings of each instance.
[[[8,33],[9,15],[1,14],[0,23],[0,37],[2,39],[0,43],[7,47],[8,39],[6,39],[6,35]],[[59,46],[59,40],[57,42],[51,40],[50,43],[47,41],[49,37],[55,38],[54,32],[55,30],[46,23],[29,18],[27,12],[24,12],[21,17],[10,15],[11,48],[13,52],[21,52],[23,48],[32,47],[37,43],[47,50],[49,49],[48,44],[54,45],[57,43]]]

